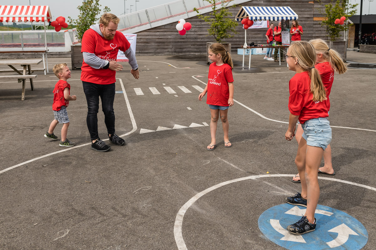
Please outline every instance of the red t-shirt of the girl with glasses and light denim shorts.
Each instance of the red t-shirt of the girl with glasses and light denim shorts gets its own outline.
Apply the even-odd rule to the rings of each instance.
[[[290,97],[288,98],[288,109],[293,115],[299,115],[300,123],[307,120],[327,117],[328,111],[326,102],[315,102],[312,100],[311,78],[308,72],[296,73],[288,83]]]

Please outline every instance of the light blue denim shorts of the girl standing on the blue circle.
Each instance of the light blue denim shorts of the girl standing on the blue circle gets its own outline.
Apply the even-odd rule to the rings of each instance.
[[[327,148],[332,140],[332,128],[329,126],[327,117],[314,118],[302,124],[302,137],[307,141],[307,145],[312,147]]]

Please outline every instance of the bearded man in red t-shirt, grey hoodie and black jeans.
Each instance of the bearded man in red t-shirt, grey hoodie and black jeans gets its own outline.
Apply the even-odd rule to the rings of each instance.
[[[91,149],[100,152],[108,151],[111,147],[105,144],[98,135],[99,97],[105,114],[109,141],[116,145],[125,145],[124,139],[115,134],[115,74],[123,69],[116,62],[118,51],[124,52],[132,67],[130,73],[135,79],[139,78],[138,64],[135,53],[130,49],[130,43],[125,36],[117,31],[120,19],[111,13],[104,13],[99,24],[91,25],[82,37],[83,63],[81,81],[88,103],[86,124],[91,139]]]

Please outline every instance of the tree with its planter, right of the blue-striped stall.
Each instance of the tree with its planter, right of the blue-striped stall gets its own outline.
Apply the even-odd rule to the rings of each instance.
[[[317,9],[318,12],[324,15],[324,19],[321,21],[321,26],[325,27],[328,37],[329,48],[337,50],[346,61],[347,51],[347,38],[344,36],[343,40],[339,40],[342,32],[346,32],[350,25],[345,22],[343,25],[335,24],[335,19],[345,16],[346,19],[356,14],[355,7],[358,4],[349,4],[349,0],[337,0],[335,4],[332,2],[325,4],[321,0],[316,0],[320,3],[321,8]]]

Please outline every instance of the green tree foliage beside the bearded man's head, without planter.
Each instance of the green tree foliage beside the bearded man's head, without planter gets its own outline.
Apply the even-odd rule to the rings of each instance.
[[[100,14],[100,7],[102,5],[99,4],[99,0],[87,0],[82,3],[81,6],[78,6],[80,14],[77,19],[72,19],[68,16],[68,23],[70,25],[69,28],[72,28],[73,25],[76,25],[77,31],[77,39],[79,41],[82,40],[83,33],[90,28],[91,25],[95,24]],[[104,12],[111,11],[107,6],[103,9]]]

